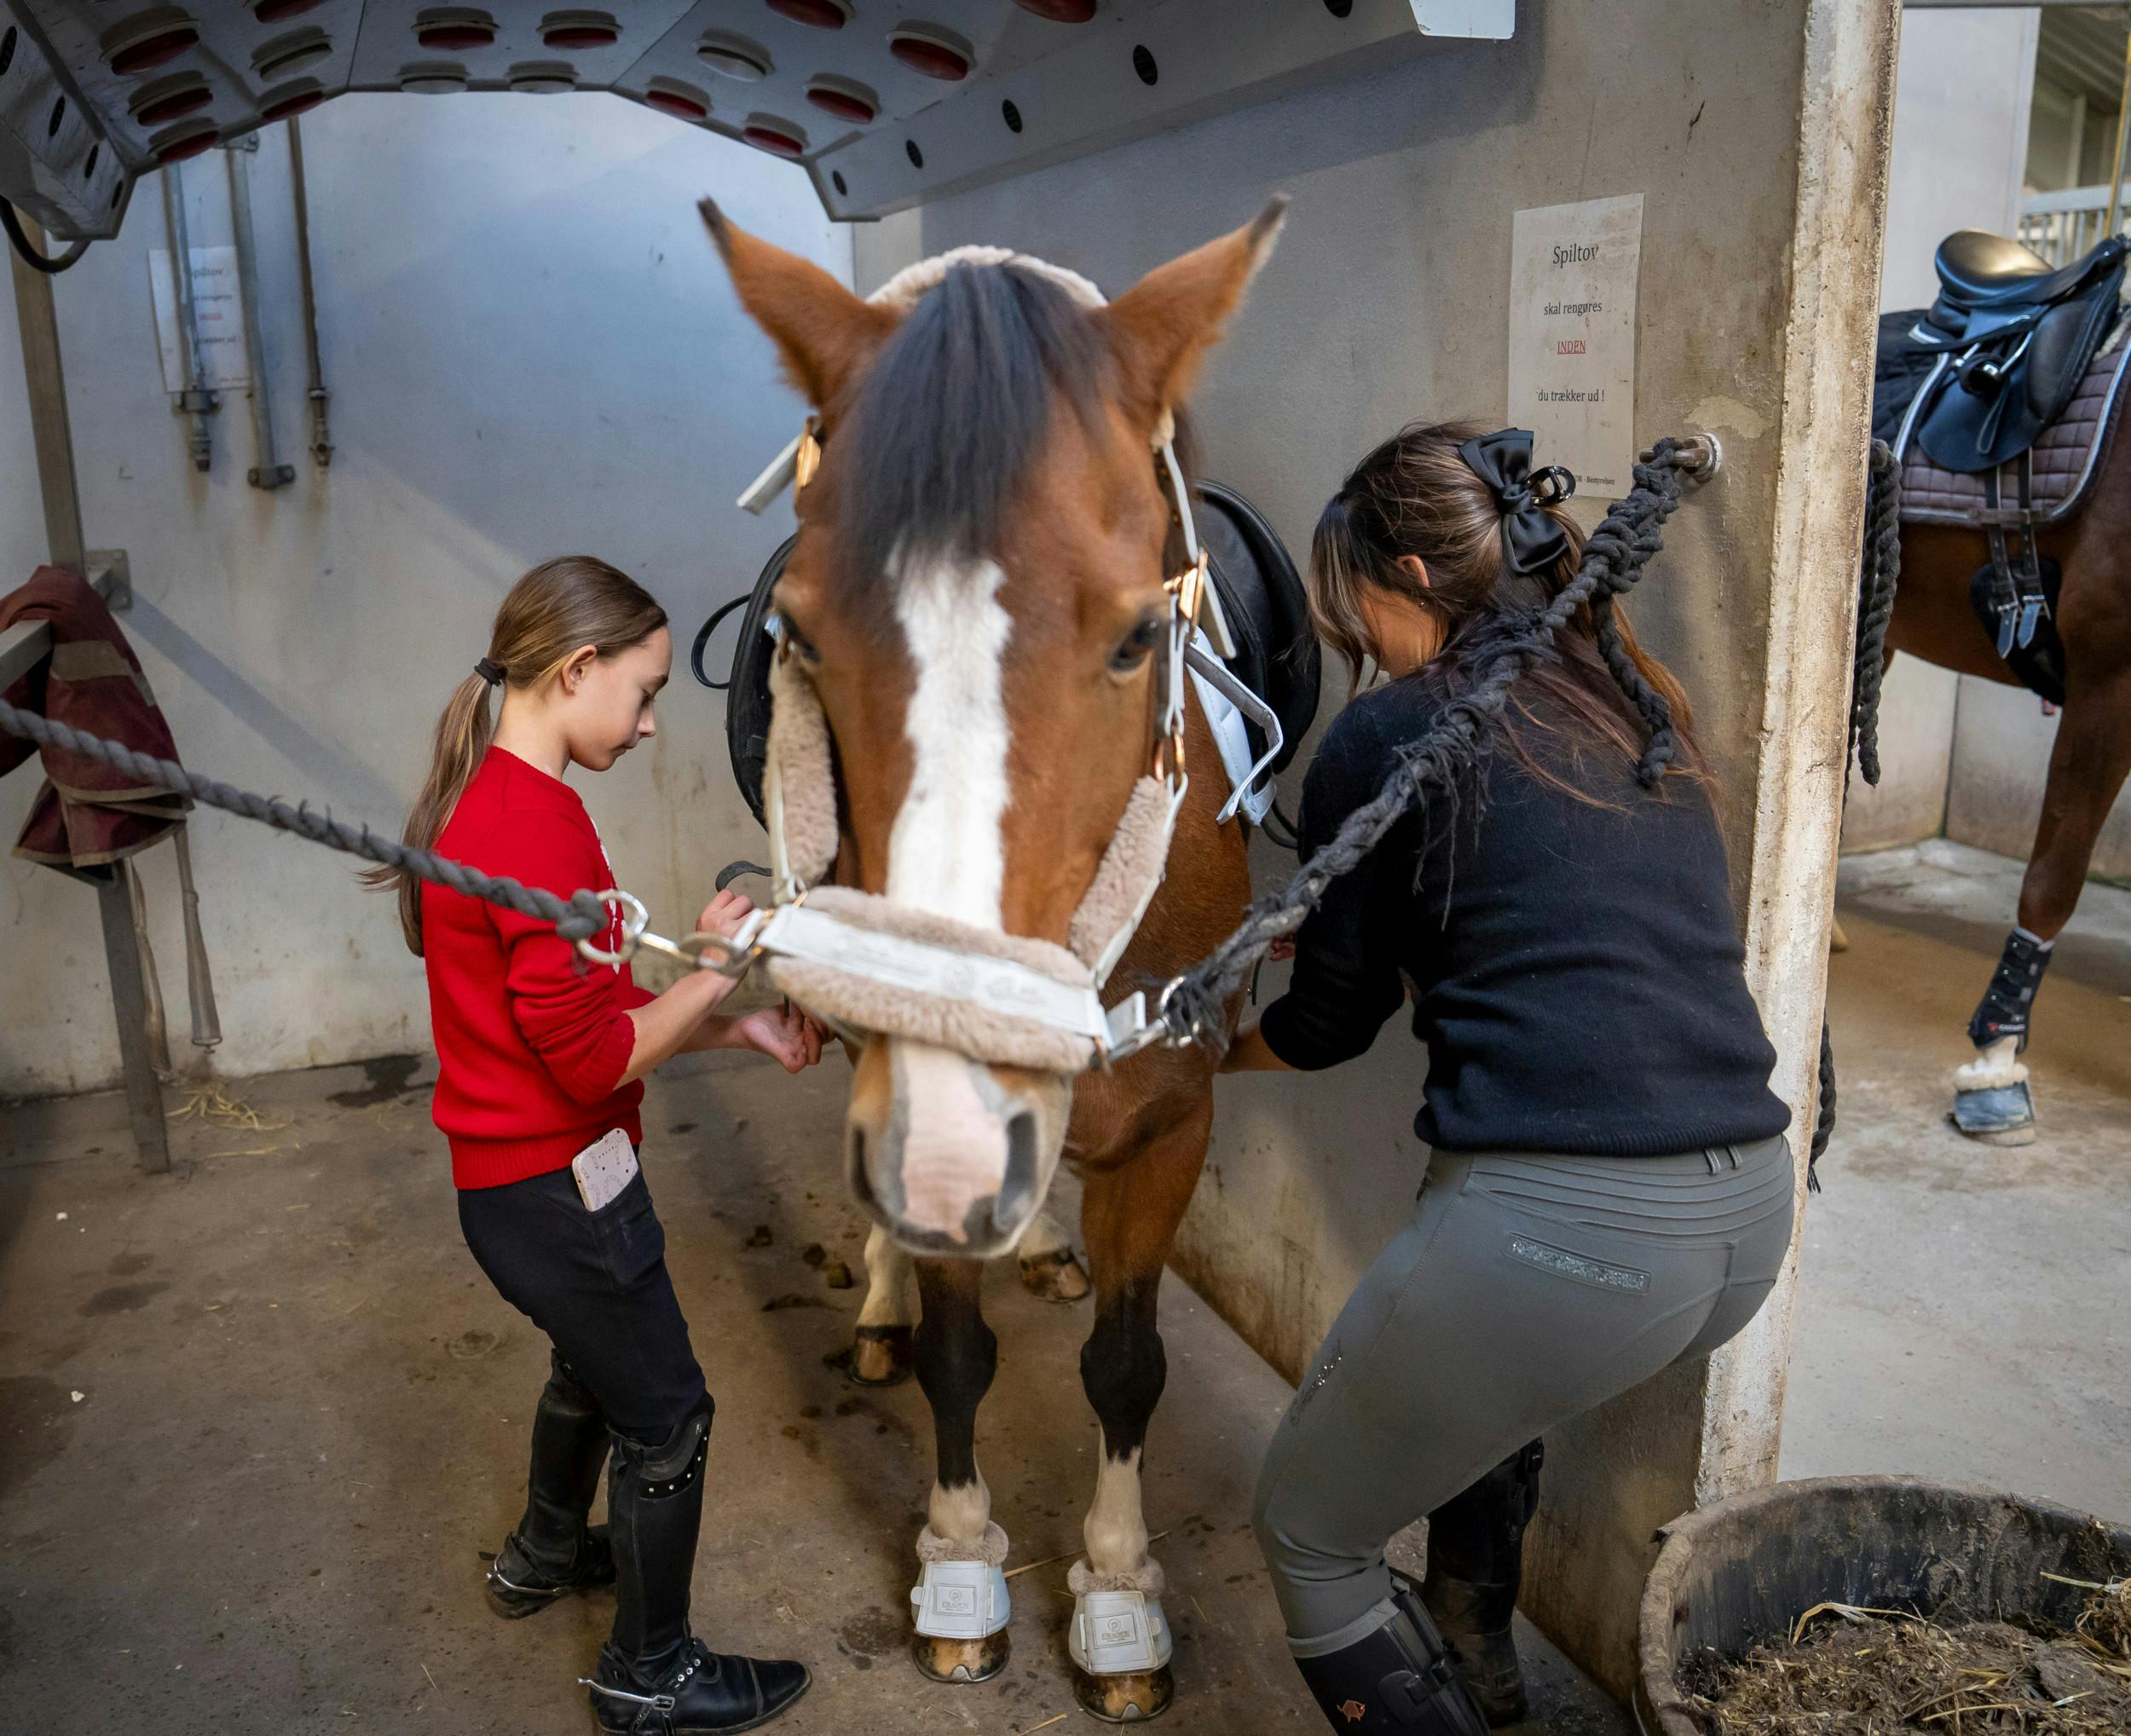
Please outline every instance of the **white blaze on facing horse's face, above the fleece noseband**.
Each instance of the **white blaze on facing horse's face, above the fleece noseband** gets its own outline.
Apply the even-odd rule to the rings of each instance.
[[[895,620],[916,675],[904,733],[910,792],[889,833],[889,899],[985,929],[999,927],[1006,880],[1006,573],[912,567]]]

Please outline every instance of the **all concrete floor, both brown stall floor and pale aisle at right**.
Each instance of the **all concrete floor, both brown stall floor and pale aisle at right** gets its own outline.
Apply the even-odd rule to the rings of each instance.
[[[2125,1517],[2131,897],[2091,888],[2044,995],[2044,1140],[1967,1146],[1939,1125],[1941,1080],[2010,910],[1995,861],[1845,869],[1845,1123],[1807,1229],[1784,1472],[1933,1472]],[[264,1125],[179,1120],[179,1174],[153,1180],[115,1097],[0,1118],[0,1730],[590,1725],[569,1683],[605,1600],[514,1625],[482,1604],[543,1348],[458,1240],[424,1078],[373,1063],[249,1080]],[[676,1284],[725,1399],[697,1625],[814,1666],[778,1725],[795,1736],[1091,1730],[1068,1689],[1063,1559],[1014,1578],[999,1683],[938,1689],[904,1659],[925,1406],[827,1365],[857,1293],[829,1291],[801,1250],[857,1270],[861,1221],[827,1161],[788,1157],[833,1148],[842,1084],[831,1067],[795,1082],[697,1063],[648,1101]],[[750,1248],[759,1225],[771,1242]],[[1014,1563],[1070,1557],[1093,1478],[1087,1310],[997,1272],[989,1312],[997,1517]],[[1317,1727],[1245,1523],[1287,1391],[1176,1282],[1164,1336],[1146,1508],[1168,1532],[1178,1638],[1166,1727]],[[1626,1730],[1558,1657],[1534,1659],[1541,1727]]]

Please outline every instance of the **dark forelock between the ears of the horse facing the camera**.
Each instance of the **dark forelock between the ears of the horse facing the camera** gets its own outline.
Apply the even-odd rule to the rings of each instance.
[[[993,554],[1059,394],[1093,426],[1108,369],[1095,322],[1057,283],[953,266],[882,345],[837,435],[846,577]]]

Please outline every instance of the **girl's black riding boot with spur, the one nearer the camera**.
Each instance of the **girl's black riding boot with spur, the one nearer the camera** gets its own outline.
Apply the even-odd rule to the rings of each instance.
[[[607,1476],[614,1636],[584,1678],[605,1736],[754,1730],[808,1689],[801,1664],[725,1657],[688,1634],[707,1442],[710,1399],[652,1453],[616,1442]]]

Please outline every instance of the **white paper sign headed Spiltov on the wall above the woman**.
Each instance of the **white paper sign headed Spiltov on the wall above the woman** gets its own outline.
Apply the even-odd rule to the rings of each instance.
[[[1634,279],[1643,196],[1519,211],[1509,266],[1509,420],[1534,464],[1622,498],[1634,464]]]

